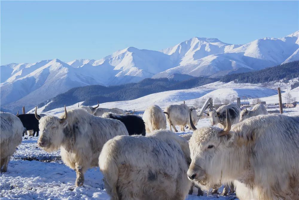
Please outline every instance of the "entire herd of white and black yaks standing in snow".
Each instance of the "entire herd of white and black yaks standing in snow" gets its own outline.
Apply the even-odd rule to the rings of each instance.
[[[202,195],[201,189],[215,192],[222,184],[223,195],[235,190],[239,199],[299,199],[299,116],[228,104],[206,113],[211,126],[197,129],[201,116],[185,103],[164,111],[149,106],[142,117],[133,113],[99,103],[65,108],[61,117],[36,109],[1,112],[1,172],[25,131],[33,130],[39,147],[60,149],[76,172],[76,186],[84,184],[87,169],[99,166],[112,200],[181,200],[193,186]],[[193,134],[177,135],[176,126]]]

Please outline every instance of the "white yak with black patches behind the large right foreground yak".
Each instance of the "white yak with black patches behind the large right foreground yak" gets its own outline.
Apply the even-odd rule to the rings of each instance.
[[[221,127],[226,126],[226,109],[228,109],[229,115],[231,117],[231,124],[239,122],[241,109],[236,104],[228,104],[220,106],[216,111],[211,111],[206,113],[211,120],[211,125],[221,124]]]

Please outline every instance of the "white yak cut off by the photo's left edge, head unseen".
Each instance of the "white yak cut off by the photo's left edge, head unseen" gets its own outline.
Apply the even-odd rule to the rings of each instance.
[[[7,112],[0,112],[1,172],[7,171],[10,157],[22,142],[23,124],[19,117]]]

